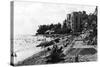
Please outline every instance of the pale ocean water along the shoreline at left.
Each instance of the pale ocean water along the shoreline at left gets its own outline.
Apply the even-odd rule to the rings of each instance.
[[[43,41],[50,41],[52,38],[46,38],[43,35],[17,35],[13,39],[13,53],[16,54],[16,56],[13,56],[14,58],[14,64],[17,64],[18,62],[21,62],[32,55],[44,50],[41,47],[36,47]]]

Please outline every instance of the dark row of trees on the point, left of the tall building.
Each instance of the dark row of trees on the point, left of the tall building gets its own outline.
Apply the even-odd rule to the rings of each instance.
[[[58,24],[50,24],[50,25],[40,25],[37,30],[36,35],[38,34],[46,34],[46,31],[53,30],[53,34],[66,34],[70,33],[71,29],[67,28],[66,21],[63,22],[63,26],[61,27],[61,23]]]

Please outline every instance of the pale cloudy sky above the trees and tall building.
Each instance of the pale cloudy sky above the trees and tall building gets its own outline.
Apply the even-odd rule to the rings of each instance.
[[[73,11],[93,13],[96,6],[40,2],[14,2],[14,35],[35,35],[38,26],[62,23]]]

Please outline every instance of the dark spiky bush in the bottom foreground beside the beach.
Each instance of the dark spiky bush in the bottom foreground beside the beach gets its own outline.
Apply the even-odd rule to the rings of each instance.
[[[53,46],[53,49],[49,56],[47,56],[47,63],[58,63],[64,61],[64,54],[62,53],[62,47],[58,49],[57,45]]]

